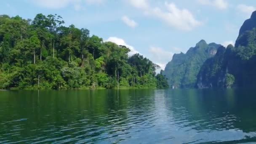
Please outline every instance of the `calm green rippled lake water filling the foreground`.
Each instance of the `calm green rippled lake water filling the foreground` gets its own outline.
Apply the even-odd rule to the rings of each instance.
[[[255,90],[0,91],[0,143],[245,143],[255,109]]]

